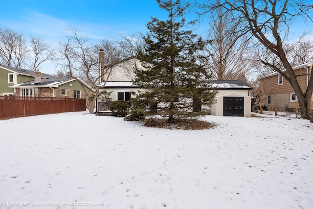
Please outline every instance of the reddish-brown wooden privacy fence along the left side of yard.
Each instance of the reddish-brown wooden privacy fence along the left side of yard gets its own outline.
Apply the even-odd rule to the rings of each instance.
[[[1,119],[85,110],[85,99],[0,96]]]

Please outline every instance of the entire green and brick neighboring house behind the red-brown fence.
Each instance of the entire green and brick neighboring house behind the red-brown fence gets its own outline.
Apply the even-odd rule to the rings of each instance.
[[[57,78],[3,65],[0,65],[0,96],[85,98],[82,86],[74,78]]]

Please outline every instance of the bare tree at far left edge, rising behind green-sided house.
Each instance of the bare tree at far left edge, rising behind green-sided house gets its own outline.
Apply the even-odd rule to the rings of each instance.
[[[28,58],[27,41],[22,33],[0,28],[0,62],[22,68]]]

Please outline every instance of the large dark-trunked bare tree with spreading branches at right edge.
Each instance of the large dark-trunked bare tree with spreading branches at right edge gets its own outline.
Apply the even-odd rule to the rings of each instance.
[[[301,117],[310,119],[313,76],[310,77],[306,91],[302,92],[286,55],[284,43],[289,39],[289,29],[296,17],[302,16],[304,20],[312,21],[311,1],[310,5],[306,0],[222,0],[218,4],[212,3],[213,6],[206,3],[199,3],[203,13],[222,7],[225,13],[240,21],[241,25],[236,30],[237,36],[249,34],[268,53],[277,56],[279,62],[272,62],[272,59],[262,59],[261,62],[280,73],[291,84],[298,98]],[[276,63],[281,63],[283,68]]]

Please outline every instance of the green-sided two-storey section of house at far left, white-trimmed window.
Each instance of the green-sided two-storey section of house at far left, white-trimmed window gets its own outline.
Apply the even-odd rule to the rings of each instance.
[[[34,80],[33,70],[24,70],[0,65],[0,96],[16,95],[10,86]],[[42,78],[55,78],[52,75],[42,73]],[[20,96],[20,95],[17,95]]]

